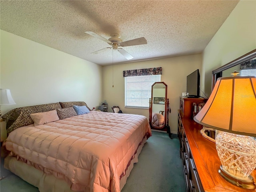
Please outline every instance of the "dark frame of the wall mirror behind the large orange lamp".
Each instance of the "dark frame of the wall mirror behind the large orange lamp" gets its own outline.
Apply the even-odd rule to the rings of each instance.
[[[235,60],[233,60],[233,61],[215,69],[215,70],[213,70],[212,71],[212,90],[214,88],[214,85],[215,85],[217,79],[222,76],[222,71],[224,71],[228,68],[234,67],[236,65],[239,65],[239,64],[241,64],[243,62],[246,62],[248,60],[251,60],[255,57],[256,57],[256,49],[254,49],[254,50],[244,54],[243,56],[241,56],[241,57],[239,57],[239,58],[237,58],[237,59],[235,59]]]

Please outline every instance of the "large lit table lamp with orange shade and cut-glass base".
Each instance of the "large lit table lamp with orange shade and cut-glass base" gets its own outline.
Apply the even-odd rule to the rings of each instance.
[[[218,78],[194,120],[221,131],[215,138],[219,174],[236,186],[254,189],[250,174],[256,168],[256,77]]]

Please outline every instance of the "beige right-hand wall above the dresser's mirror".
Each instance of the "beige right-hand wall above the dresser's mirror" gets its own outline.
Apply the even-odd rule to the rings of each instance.
[[[201,85],[211,93],[212,70],[256,48],[256,1],[241,0],[203,52]]]

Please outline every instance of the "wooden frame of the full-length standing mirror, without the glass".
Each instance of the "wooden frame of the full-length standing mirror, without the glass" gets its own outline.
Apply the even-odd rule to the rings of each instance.
[[[154,125],[152,125],[152,104],[153,104],[153,86],[155,84],[164,84],[165,86],[165,104],[164,104],[164,125],[162,127],[155,127]],[[167,116],[168,116],[168,110],[167,109],[167,85],[165,82],[154,82],[151,86],[151,100],[150,100],[150,104],[149,104],[149,124],[150,127],[154,130],[166,130],[166,123],[167,123]]]

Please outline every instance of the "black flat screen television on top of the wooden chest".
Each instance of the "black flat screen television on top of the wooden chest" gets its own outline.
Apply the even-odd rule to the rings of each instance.
[[[187,93],[189,98],[200,97],[200,74],[199,69],[187,76]]]

